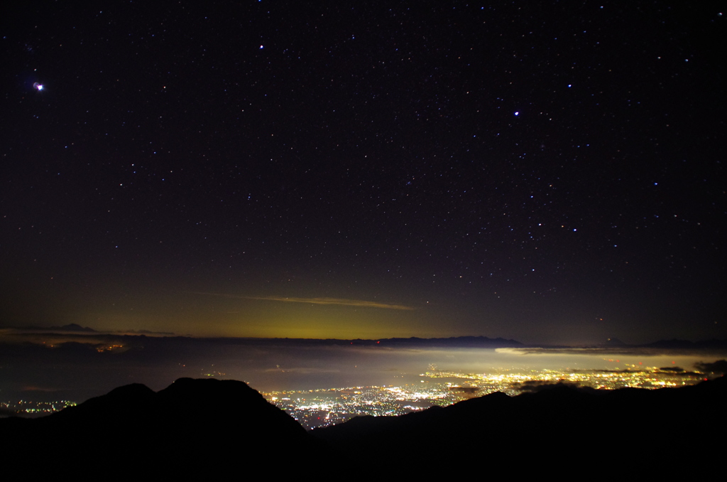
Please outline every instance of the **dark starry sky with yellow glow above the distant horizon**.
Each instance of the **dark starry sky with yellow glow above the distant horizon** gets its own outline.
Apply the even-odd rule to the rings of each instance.
[[[726,338],[715,5],[5,6],[0,327]]]

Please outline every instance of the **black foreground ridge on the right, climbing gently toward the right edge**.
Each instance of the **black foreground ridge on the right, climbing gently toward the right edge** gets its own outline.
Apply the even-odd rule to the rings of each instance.
[[[662,390],[555,384],[512,398],[497,392],[398,417],[357,417],[313,435],[389,475],[427,476],[435,467],[503,477],[667,474],[680,470],[675,459],[721,456],[723,446],[708,440],[727,428],[726,402],[724,378]]]

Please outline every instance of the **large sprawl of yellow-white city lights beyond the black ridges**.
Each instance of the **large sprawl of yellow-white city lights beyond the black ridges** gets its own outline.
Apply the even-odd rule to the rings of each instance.
[[[679,369],[636,368],[623,371],[499,371],[465,374],[430,371],[418,383],[401,386],[347,387],[263,393],[308,430],[345,422],[354,416],[393,416],[431,406],[446,406],[467,398],[504,392],[518,395],[534,384],[578,384],[599,390],[625,387],[656,389],[696,384],[704,374]]]

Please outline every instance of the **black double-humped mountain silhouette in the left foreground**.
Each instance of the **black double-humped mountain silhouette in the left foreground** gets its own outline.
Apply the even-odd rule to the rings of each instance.
[[[179,379],[156,393],[126,385],[40,419],[0,420],[0,433],[13,440],[6,460],[40,459],[49,474],[73,461],[91,473],[185,480],[302,463],[320,445],[244,382],[217,379]]]

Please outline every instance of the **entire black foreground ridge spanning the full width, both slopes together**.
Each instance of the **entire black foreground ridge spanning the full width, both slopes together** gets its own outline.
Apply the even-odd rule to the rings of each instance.
[[[2,419],[0,432],[7,460],[36,477],[69,467],[184,479],[699,473],[723,454],[726,406],[724,377],[662,390],[558,384],[309,433],[244,382],[179,379],[159,392],[126,385],[41,419]]]

